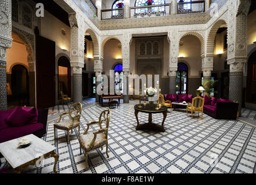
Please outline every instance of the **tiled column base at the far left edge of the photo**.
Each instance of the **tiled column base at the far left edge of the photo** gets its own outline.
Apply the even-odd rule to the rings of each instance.
[[[6,62],[0,61],[0,110],[7,109]]]

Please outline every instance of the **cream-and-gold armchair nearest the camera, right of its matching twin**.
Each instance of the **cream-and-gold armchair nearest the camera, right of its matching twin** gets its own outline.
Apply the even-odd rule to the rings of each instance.
[[[85,169],[89,167],[88,152],[91,150],[96,150],[100,147],[103,150],[103,146],[106,145],[106,154],[107,158],[109,158],[109,154],[107,153],[107,134],[109,131],[109,121],[110,110],[104,110],[99,116],[99,121],[92,121],[91,123],[88,123],[84,134],[79,136],[80,154],[82,154],[82,149],[85,151]],[[102,123],[106,124],[105,128],[102,127]],[[88,132],[90,125],[93,124],[98,124],[100,129],[95,132]]]

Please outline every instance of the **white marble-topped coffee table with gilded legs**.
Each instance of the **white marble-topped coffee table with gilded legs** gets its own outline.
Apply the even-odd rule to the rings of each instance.
[[[30,146],[19,147],[19,141],[21,138],[30,138],[32,140]],[[14,168],[15,173],[21,173],[29,165],[35,165],[41,156],[44,158],[54,157],[55,164],[53,166],[53,172],[57,173],[56,165],[59,160],[59,155],[55,153],[56,147],[38,138],[37,136],[30,134],[21,138],[8,140],[7,142],[0,143],[0,152],[6,161]]]

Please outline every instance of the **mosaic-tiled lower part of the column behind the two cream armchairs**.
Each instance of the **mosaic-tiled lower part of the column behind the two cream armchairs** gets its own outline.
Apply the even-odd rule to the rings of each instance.
[[[73,73],[73,101],[82,102],[82,74]]]

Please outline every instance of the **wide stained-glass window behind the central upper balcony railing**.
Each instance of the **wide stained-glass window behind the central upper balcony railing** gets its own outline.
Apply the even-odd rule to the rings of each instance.
[[[164,5],[165,0],[136,0],[135,6]],[[135,13],[164,12],[165,6],[135,9]]]

